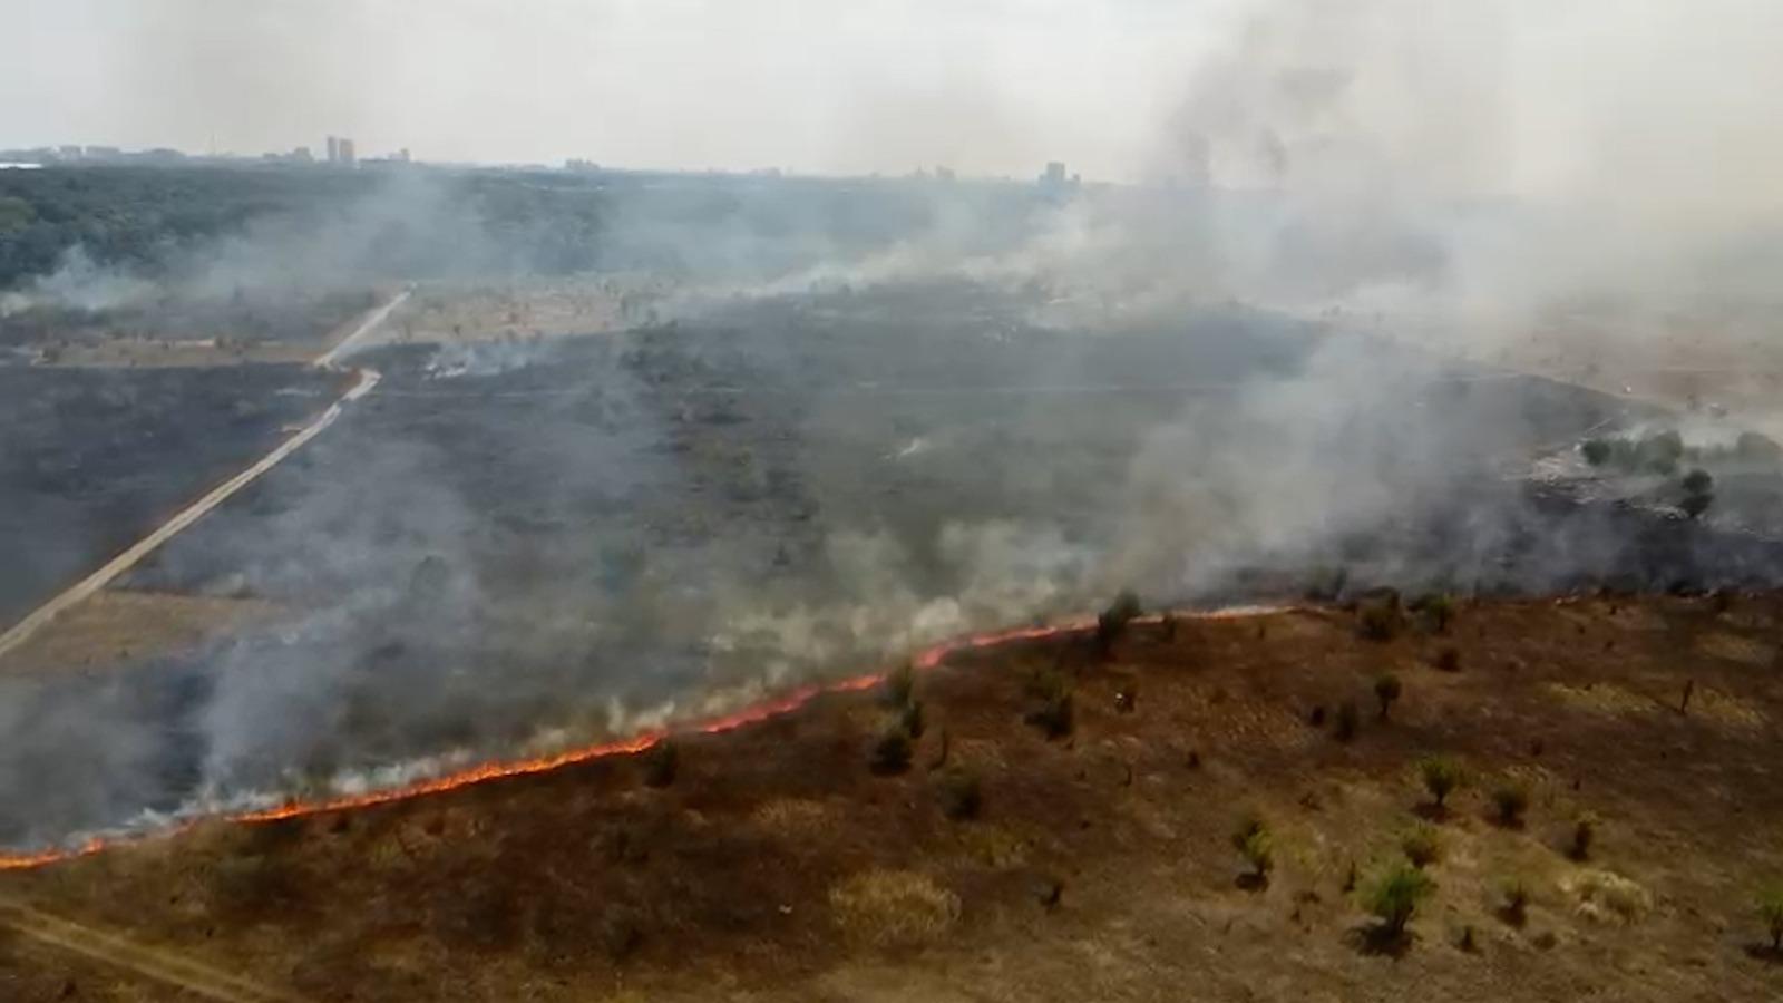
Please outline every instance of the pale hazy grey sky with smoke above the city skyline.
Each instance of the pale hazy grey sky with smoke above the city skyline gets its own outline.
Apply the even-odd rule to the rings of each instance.
[[[1228,182],[1337,162],[1751,203],[1783,178],[1779,0],[0,0],[0,145],[1136,178],[1207,137]]]

